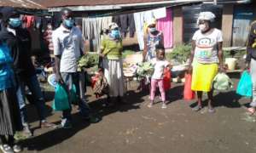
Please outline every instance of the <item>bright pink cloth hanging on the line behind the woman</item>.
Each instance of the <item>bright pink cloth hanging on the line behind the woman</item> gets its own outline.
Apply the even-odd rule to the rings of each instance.
[[[173,45],[173,21],[172,21],[172,9],[166,10],[166,17],[157,20],[157,30],[162,31],[164,34],[164,46],[165,48],[172,48]]]

